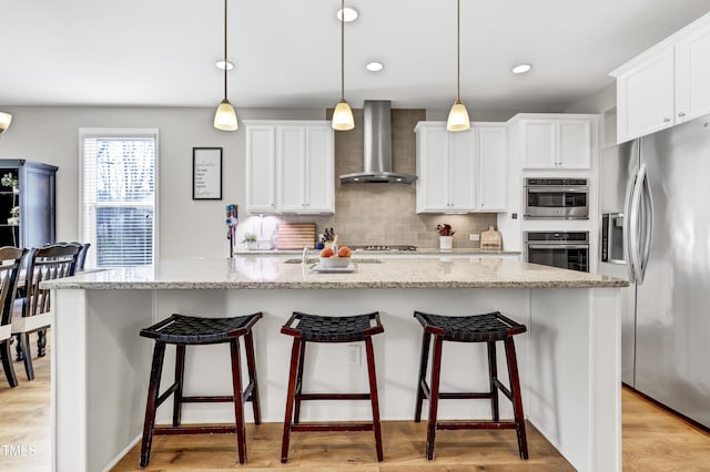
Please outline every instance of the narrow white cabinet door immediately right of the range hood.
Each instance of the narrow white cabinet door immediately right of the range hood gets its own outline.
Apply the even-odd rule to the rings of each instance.
[[[417,213],[442,213],[449,207],[449,132],[426,126],[417,132]]]

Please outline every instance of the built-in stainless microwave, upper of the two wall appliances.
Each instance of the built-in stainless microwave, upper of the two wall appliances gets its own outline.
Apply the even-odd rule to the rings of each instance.
[[[589,219],[586,178],[525,179],[526,218]]]

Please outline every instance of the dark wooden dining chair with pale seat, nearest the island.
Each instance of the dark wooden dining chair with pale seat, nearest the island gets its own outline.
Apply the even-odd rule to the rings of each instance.
[[[19,340],[28,380],[34,379],[30,334],[38,332],[38,355],[44,355],[45,330],[52,322],[50,290],[40,288],[44,280],[73,276],[81,246],[55,244],[34,248],[30,253],[26,276],[26,297],[14,304],[12,335]]]

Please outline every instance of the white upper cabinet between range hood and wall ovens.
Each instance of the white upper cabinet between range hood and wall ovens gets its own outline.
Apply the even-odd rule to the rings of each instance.
[[[417,213],[505,209],[505,124],[452,133],[444,122],[419,122],[416,133]]]

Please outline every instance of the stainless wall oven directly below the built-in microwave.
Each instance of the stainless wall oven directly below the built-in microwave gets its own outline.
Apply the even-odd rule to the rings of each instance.
[[[525,260],[589,271],[589,232],[525,232]]]

